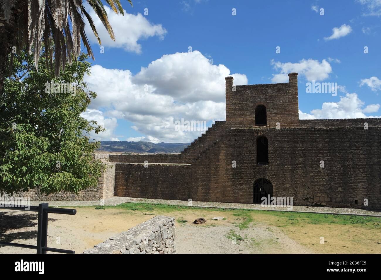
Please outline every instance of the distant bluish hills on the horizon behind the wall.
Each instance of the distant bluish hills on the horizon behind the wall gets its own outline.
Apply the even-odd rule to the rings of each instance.
[[[165,143],[129,142],[129,141],[101,141],[100,151],[106,152],[132,152],[152,154],[173,154],[183,151],[191,143]]]

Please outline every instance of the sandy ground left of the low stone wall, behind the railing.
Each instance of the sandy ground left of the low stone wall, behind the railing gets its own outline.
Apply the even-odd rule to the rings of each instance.
[[[127,215],[117,209],[107,209],[107,211],[94,210],[94,208],[76,209],[75,216],[49,214],[49,247],[74,250],[77,254],[82,253],[112,235],[150,219],[147,215]],[[24,226],[19,227],[20,224]],[[1,210],[0,240],[36,245],[37,213]],[[35,250],[2,246],[0,253],[33,254]]]

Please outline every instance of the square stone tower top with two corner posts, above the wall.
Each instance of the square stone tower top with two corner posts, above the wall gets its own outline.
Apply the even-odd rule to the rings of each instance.
[[[226,77],[227,126],[299,126],[298,73],[288,74],[288,83],[234,85]]]

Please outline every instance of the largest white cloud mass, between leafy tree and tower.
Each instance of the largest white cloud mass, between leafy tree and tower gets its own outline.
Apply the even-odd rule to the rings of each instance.
[[[164,55],[133,75],[130,70],[96,65],[85,76],[89,90],[98,97],[90,109],[102,107],[105,116],[123,118],[152,142],[191,142],[202,131],[175,131],[176,120],[225,119],[225,77],[247,85],[247,77],[231,74],[226,66],[213,65],[199,51]],[[131,138],[133,139],[133,138]]]

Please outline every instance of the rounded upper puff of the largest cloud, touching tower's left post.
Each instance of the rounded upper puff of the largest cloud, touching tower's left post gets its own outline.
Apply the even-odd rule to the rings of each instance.
[[[132,81],[153,86],[153,93],[168,95],[178,101],[224,101],[225,77],[230,75],[223,64],[212,61],[199,51],[163,55],[142,67]],[[246,75],[233,74],[236,85],[247,84]]]

